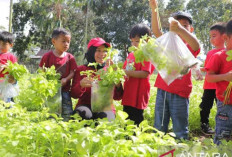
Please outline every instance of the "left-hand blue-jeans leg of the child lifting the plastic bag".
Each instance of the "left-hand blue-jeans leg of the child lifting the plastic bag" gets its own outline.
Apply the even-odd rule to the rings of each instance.
[[[169,103],[167,101],[168,92],[158,89],[155,103],[155,123],[154,127],[165,133],[168,132],[170,121]]]

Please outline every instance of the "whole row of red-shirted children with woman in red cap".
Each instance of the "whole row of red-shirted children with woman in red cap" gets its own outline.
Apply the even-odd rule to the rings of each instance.
[[[152,11],[152,31],[158,38],[163,32],[161,32],[161,28],[159,27],[156,0],[150,0],[149,5]],[[200,44],[192,34],[194,29],[192,27],[193,19],[191,15],[179,11],[172,14],[172,17],[176,20],[170,23],[170,31],[178,34],[191,53],[196,57],[200,52]],[[3,64],[2,61],[4,59],[11,60],[12,62],[16,61],[16,58],[9,53],[13,42],[3,38],[2,36],[4,34],[5,32],[2,32],[0,35],[1,64]],[[138,47],[140,38],[144,35],[151,36],[150,28],[144,24],[135,25],[129,35],[131,45]],[[111,47],[111,45],[102,38],[91,39],[88,43],[87,52],[85,53],[87,64],[77,66],[73,55],[67,52],[70,40],[71,34],[67,30],[63,28],[54,30],[52,34],[54,50],[46,53],[39,64],[41,68],[55,65],[57,72],[61,74],[62,116],[68,120],[70,115],[78,113],[83,119],[107,117],[109,120],[113,120],[115,118],[114,107],[112,111],[92,112],[90,100],[93,80],[80,75],[82,71],[97,71],[104,68],[104,58],[107,54],[106,48]],[[213,133],[209,127],[208,117],[213,102],[216,100],[217,116],[214,141],[216,144],[219,144],[220,139],[230,137],[232,130],[232,95],[230,95],[231,99],[228,104],[223,104],[224,92],[232,80],[232,73],[230,72],[232,62],[226,61],[226,52],[232,50],[232,20],[226,26],[222,23],[213,25],[210,28],[210,41],[215,46],[215,49],[208,52],[205,66],[202,68],[202,71],[206,71],[207,74],[204,83],[202,103],[200,104],[201,127],[205,133]],[[89,63],[98,63],[98,66],[97,68],[88,66]],[[130,67],[131,65],[133,65],[133,68]],[[139,125],[144,119],[143,111],[148,105],[150,94],[149,77],[155,67],[151,62],[144,62],[143,64],[135,63],[135,57],[133,52],[131,52],[123,68],[126,73],[123,92],[116,99],[122,99],[123,111],[128,114],[129,119]],[[3,69],[1,68],[1,70]],[[1,73],[2,76],[3,74]],[[189,96],[192,90],[191,71],[183,77],[176,79],[170,85],[167,85],[158,74],[154,86],[157,87],[154,127],[167,133],[171,118],[176,138],[188,139]],[[122,91],[120,89],[122,89],[120,85],[115,87],[115,95],[117,95],[117,91]],[[74,111],[71,97],[79,99]]]

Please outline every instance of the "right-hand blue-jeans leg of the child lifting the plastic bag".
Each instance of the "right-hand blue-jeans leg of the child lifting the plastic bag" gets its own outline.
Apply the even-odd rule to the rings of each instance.
[[[177,139],[188,139],[189,99],[170,93],[170,114]]]

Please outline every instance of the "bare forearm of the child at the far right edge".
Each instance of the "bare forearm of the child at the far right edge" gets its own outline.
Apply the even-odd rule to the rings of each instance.
[[[215,74],[213,71],[208,71],[205,76],[206,81],[208,82],[220,82],[220,81],[232,81],[232,71],[229,71],[225,74]]]

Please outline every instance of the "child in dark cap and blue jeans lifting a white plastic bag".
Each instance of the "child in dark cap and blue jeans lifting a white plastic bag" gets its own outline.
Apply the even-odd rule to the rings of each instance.
[[[156,37],[160,37],[163,33],[159,28],[156,0],[150,0],[150,7],[152,9],[152,30]],[[188,13],[179,11],[172,14],[172,17],[174,17],[176,21],[170,23],[170,31],[177,33],[196,57],[200,52],[200,44],[192,35],[194,30],[192,27],[192,16]],[[154,127],[167,133],[171,118],[176,138],[187,139],[189,132],[189,95],[192,90],[191,71],[182,78],[174,80],[169,86],[158,74],[155,87],[158,89],[155,104]]]

